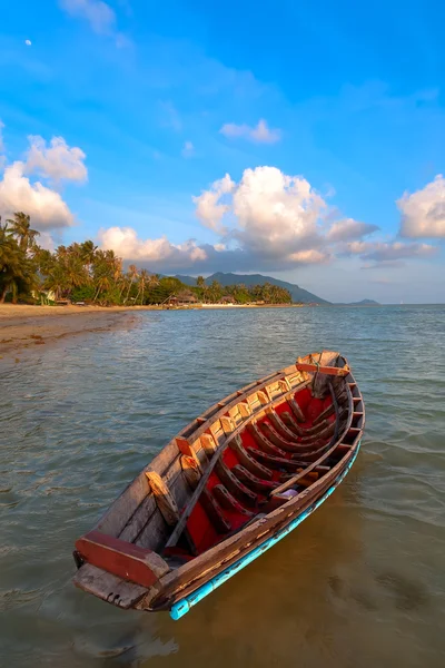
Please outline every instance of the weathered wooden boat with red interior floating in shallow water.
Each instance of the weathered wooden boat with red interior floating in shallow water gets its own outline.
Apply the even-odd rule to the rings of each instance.
[[[364,426],[336,352],[243,387],[174,438],[76,542],[75,583],[120,608],[182,617],[332,494]]]

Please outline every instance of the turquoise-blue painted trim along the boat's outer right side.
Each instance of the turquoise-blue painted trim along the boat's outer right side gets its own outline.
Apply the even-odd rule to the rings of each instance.
[[[170,617],[172,619],[177,620],[177,619],[180,619],[181,617],[184,617],[185,615],[187,615],[187,612],[189,612],[189,610],[192,608],[192,606],[196,606],[197,603],[199,603],[199,601],[201,601],[206,596],[208,596],[209,593],[215,591],[215,589],[217,589],[218,587],[224,584],[224,582],[229,580],[238,571],[240,571],[243,568],[245,568],[246,566],[251,563],[251,561],[255,561],[255,559],[260,557],[260,554],[263,554],[264,552],[266,552],[267,550],[273,548],[278,541],[280,541],[283,538],[285,538],[285,536],[287,536],[288,533],[290,533],[290,531],[296,529],[296,527],[298,527],[298,524],[300,524],[304,520],[306,520],[306,518],[308,518],[314,512],[314,510],[317,510],[317,508],[319,505],[322,505],[322,503],[324,501],[326,501],[326,499],[328,499],[330,497],[330,494],[335,491],[335,489],[340,484],[340,482],[347,475],[352,465],[354,464],[359,449],[360,449],[360,441],[358,442],[357,450],[354,453],[353,459],[350,460],[350,462],[348,463],[348,465],[346,466],[344,472],[336,479],[333,487],[330,487],[327,490],[327,492],[325,492],[325,494],[318,499],[318,501],[316,501],[313,505],[309,505],[309,508],[307,508],[300,515],[298,515],[291,522],[289,522],[287,524],[287,527],[281,529],[281,531],[279,531],[278,533],[271,536],[268,540],[266,540],[264,543],[261,543],[258,548],[255,548],[255,550],[253,550],[251,552],[249,552],[248,554],[246,554],[245,557],[239,559],[239,561],[236,561],[235,563],[233,563],[231,566],[226,568],[226,570],[224,570],[220,573],[218,573],[217,576],[215,576],[215,578],[212,578],[211,580],[209,580],[208,582],[206,582],[205,584],[202,584],[201,587],[196,589],[192,593],[190,593],[186,598],[177,601],[171,607]]]

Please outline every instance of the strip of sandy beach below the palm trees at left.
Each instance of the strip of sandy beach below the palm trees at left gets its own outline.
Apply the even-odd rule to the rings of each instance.
[[[0,305],[0,357],[62,336],[103,332],[134,321],[137,307]]]

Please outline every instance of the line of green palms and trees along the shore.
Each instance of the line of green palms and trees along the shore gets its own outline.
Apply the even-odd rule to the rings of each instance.
[[[126,269],[113,250],[98,248],[91,240],[61,245],[51,252],[39,246],[38,237],[27,214],[16,213],[6,223],[0,217],[0,303],[68,299],[108,306],[145,305],[162,304],[174,296],[185,302],[215,303],[224,297],[238,304],[291,302],[288,291],[270,283],[222,287],[217,281],[207,285],[198,276],[196,286],[190,287],[134,264]]]

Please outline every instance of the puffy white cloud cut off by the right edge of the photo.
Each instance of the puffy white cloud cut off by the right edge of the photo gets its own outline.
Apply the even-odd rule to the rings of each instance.
[[[445,179],[442,174],[422,190],[413,195],[405,193],[397,206],[402,213],[402,236],[445,238]]]

